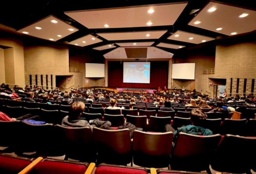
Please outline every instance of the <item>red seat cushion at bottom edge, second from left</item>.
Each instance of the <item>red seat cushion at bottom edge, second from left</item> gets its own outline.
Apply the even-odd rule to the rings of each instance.
[[[40,162],[35,168],[36,174],[84,174],[86,170],[86,165],[56,161]]]

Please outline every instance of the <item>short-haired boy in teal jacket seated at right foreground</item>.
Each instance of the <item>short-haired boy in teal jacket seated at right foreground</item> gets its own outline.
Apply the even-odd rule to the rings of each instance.
[[[167,124],[165,127],[166,132],[174,132],[173,142],[175,142],[176,138],[178,138],[179,132],[184,132],[191,135],[203,135],[203,136],[213,135],[213,132],[210,129],[204,128],[204,120],[206,119],[207,119],[207,114],[205,114],[202,110],[193,109],[190,112],[190,120],[192,125],[182,126],[177,130],[175,130],[170,124]]]

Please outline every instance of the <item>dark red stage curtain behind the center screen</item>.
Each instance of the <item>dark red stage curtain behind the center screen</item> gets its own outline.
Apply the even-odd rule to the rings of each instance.
[[[108,87],[134,87],[134,88],[164,88],[168,83],[168,61],[153,61],[150,69],[150,83],[123,83],[123,62],[108,62]]]

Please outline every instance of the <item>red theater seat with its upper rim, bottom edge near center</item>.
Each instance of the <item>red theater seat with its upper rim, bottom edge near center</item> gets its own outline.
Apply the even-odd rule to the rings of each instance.
[[[135,168],[121,165],[100,164],[95,174],[148,174],[146,168]]]

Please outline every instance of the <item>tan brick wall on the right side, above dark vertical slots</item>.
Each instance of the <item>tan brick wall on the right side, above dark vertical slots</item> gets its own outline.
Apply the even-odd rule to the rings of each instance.
[[[244,78],[247,78],[246,93],[251,92],[252,79],[256,79],[255,37],[256,33],[249,33],[220,39],[217,42],[215,77],[227,79],[228,93],[230,92],[230,78],[233,78],[232,93],[236,93],[237,78],[240,78],[239,93],[244,92]],[[256,85],[254,92],[256,92]]]

